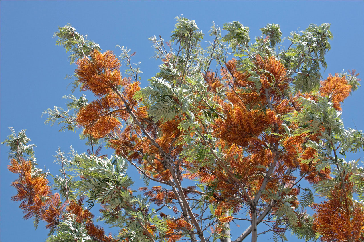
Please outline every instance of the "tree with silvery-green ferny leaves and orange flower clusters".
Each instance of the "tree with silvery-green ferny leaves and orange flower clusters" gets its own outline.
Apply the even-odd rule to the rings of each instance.
[[[344,129],[340,118],[360,79],[352,71],[320,81],[329,28],[310,24],[282,40],[279,25],[267,24],[251,44],[239,22],[224,24],[224,36],[213,25],[204,49],[203,33],[181,16],[169,42],[150,38],[162,64],[141,88],[130,49],[120,47],[118,58],[70,24],[59,27],[57,44],[77,65],[74,90],[97,98],[66,96],[67,110],[46,110],[46,123],[82,128],[91,150],[58,150],[53,194],[25,130],[12,130],[4,141],[8,169],[19,174],[12,199],[24,218],[47,223],[47,241],[257,241],[268,231],[285,239],[287,230],[305,240],[363,241],[363,167],[344,159],[363,150],[363,132]],[[100,156],[102,144],[115,156]],[[128,165],[143,177],[139,192]],[[313,191],[326,200],[315,203]],[[118,235],[94,225],[95,203]],[[250,226],[231,238],[240,220]],[[269,229],[258,232],[260,223]]]

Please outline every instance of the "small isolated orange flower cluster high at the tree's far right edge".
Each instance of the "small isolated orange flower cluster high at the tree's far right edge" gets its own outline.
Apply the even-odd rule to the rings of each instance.
[[[344,101],[351,92],[351,85],[348,84],[345,76],[339,77],[339,74],[329,77],[325,81],[321,81],[320,94],[321,96],[331,97],[331,101],[334,104],[336,110],[341,111],[340,102]]]

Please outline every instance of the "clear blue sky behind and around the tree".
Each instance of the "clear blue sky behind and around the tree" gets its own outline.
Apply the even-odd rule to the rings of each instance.
[[[209,40],[207,32],[212,21],[221,27],[226,22],[240,21],[250,28],[251,39],[267,23],[279,24],[283,36],[298,28],[303,30],[310,23],[331,23],[334,39],[324,77],[348,69],[364,74],[363,1],[1,1],[0,141],[9,135],[9,126],[16,131],[27,129],[28,137],[37,145],[35,155],[40,168],[46,166],[53,174],[58,174],[53,164],[58,147],[68,152],[73,145],[79,153],[87,149],[77,133],[58,132],[57,126],[45,125],[46,117],[41,117],[47,108],[64,107],[66,100],[61,97],[71,93],[70,88],[66,89],[69,80],[64,77],[72,74],[75,66],[68,64],[64,49],[55,45],[52,36],[57,26],[71,23],[79,33],[87,33],[99,43],[103,51],[110,49],[119,54],[117,44],[136,51],[134,62],[142,62],[142,86],[146,86],[146,80],[154,76],[160,64],[150,58],[153,49],[148,38],[161,35],[169,40],[174,17],[181,14],[196,21],[205,40]],[[92,100],[91,95],[88,98]],[[363,130],[363,87],[345,100],[343,110],[345,126],[356,125]],[[40,223],[34,231],[32,219],[22,218],[19,202],[10,201],[16,193],[10,184],[17,175],[7,170],[8,147],[0,148],[1,241],[44,241],[48,233],[43,229],[45,224]],[[363,159],[363,153],[348,158],[359,157]],[[130,170],[137,181],[137,173]],[[258,237],[261,241],[269,238]]]

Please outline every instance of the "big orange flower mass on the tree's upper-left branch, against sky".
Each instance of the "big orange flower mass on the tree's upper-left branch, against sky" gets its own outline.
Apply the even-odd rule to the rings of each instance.
[[[79,110],[78,125],[84,127],[84,134],[94,138],[107,136],[117,132],[121,126],[119,119],[129,118],[126,108],[136,108],[138,116],[146,116],[145,109],[138,110],[135,93],[140,90],[140,82],[131,82],[130,78],[120,75],[120,62],[111,51],[100,53],[97,50],[91,54],[91,60],[84,57],[77,61],[76,74],[82,82],[83,90],[91,90],[99,100]],[[122,97],[115,93],[116,86],[122,86]],[[127,107],[124,101],[127,102]]]

